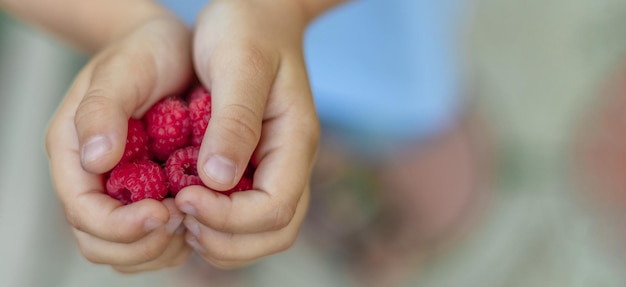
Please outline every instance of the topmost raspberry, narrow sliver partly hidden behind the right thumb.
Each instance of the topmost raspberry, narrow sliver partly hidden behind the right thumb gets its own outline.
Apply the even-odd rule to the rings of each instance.
[[[191,145],[200,146],[211,119],[211,93],[202,86],[193,90],[189,95],[189,117],[191,118]]]

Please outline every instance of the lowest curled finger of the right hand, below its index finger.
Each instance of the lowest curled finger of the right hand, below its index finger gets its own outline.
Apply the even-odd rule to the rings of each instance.
[[[285,228],[257,234],[224,233],[185,218],[187,242],[207,261],[220,268],[240,267],[267,255],[284,251],[295,242],[309,201],[307,190],[300,199],[294,220]],[[194,243],[195,241],[195,243]],[[199,246],[198,246],[199,245]]]

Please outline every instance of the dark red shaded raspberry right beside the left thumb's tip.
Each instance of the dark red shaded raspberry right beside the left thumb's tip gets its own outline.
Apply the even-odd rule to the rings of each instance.
[[[126,146],[120,163],[126,163],[142,159],[150,159],[152,154],[148,148],[148,133],[144,123],[140,120],[130,118],[128,120],[128,133],[126,136]]]

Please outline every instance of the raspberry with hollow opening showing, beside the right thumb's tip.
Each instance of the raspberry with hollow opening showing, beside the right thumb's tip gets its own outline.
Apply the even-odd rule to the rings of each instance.
[[[165,174],[170,183],[170,192],[176,196],[178,192],[189,185],[203,185],[198,176],[199,147],[189,146],[173,152],[165,162]]]

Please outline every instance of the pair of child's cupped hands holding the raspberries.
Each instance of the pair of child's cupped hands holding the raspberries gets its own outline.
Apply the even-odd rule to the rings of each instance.
[[[192,250],[220,268],[290,247],[309,200],[319,138],[302,54],[306,17],[289,1],[213,1],[191,31],[159,15],[84,67],[46,138],[58,197],[82,254],[121,272],[177,266]],[[197,75],[213,95],[198,172],[214,190],[249,160],[254,190],[200,186],[124,206],[101,174],[121,158],[129,117],[183,91]]]

